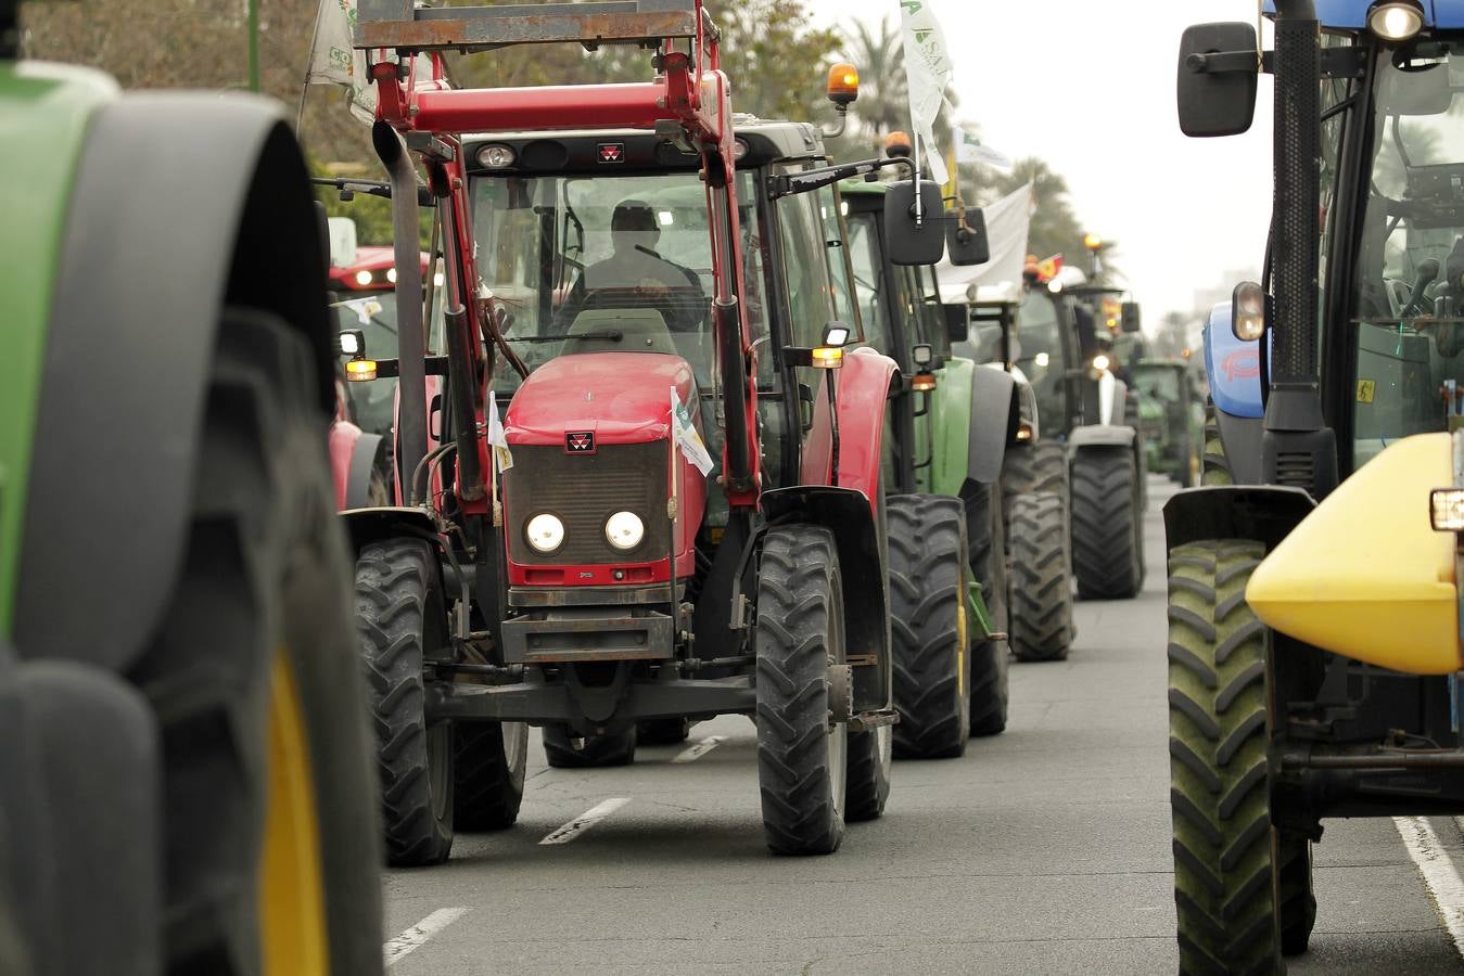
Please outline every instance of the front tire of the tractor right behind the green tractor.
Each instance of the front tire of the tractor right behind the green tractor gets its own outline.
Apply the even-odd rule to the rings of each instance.
[[[1012,499],[1007,628],[1019,661],[1060,661],[1073,645],[1067,512],[1057,495]]]

